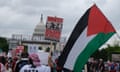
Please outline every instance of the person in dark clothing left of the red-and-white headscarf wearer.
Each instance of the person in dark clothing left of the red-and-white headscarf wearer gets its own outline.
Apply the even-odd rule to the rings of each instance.
[[[28,55],[27,52],[22,52],[22,54],[21,54],[21,60],[16,63],[14,72],[19,72],[20,69],[21,69],[24,65],[29,64],[29,62],[28,62],[28,60],[29,60],[29,59],[28,59],[28,56],[29,56],[29,55]]]

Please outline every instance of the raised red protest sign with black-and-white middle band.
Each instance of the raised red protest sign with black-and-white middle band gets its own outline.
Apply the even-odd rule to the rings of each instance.
[[[47,18],[45,39],[59,41],[63,26],[63,18],[50,17]]]

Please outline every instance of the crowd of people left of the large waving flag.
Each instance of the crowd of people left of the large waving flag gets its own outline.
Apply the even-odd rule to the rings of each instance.
[[[38,54],[27,52],[16,57],[0,56],[0,72],[56,72],[51,56],[48,56],[48,65],[42,65]]]

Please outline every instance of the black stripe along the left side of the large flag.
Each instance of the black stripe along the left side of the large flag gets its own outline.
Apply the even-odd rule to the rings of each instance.
[[[62,51],[60,57],[58,58],[58,66],[59,67],[64,66],[64,64],[67,60],[67,57],[69,55],[69,52],[72,49],[74,43],[76,42],[77,38],[81,35],[81,33],[84,31],[84,29],[87,27],[90,9],[91,8],[89,8],[86,11],[86,13],[81,17],[81,19],[76,24],[73,32],[71,33],[69,40],[64,47],[64,50]]]

